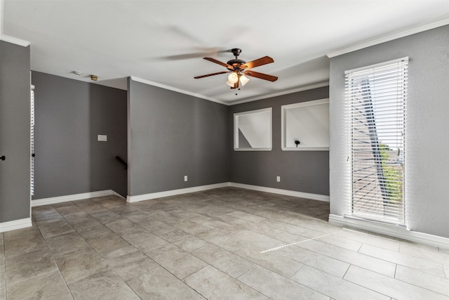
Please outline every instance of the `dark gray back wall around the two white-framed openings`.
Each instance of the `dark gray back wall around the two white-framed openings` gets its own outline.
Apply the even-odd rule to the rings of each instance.
[[[329,98],[328,87],[229,107],[230,181],[329,195],[329,151],[281,150],[281,105]],[[272,151],[234,151],[234,113],[272,107]],[[281,176],[281,182],[276,182]]]

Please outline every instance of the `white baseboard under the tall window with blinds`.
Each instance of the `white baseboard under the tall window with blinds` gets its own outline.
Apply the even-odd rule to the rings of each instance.
[[[389,235],[391,237],[398,237],[403,240],[409,240],[412,242],[420,242],[423,244],[429,244],[435,247],[449,248],[449,238],[439,237],[438,235],[429,235],[427,233],[420,233],[417,231],[411,231],[402,226],[392,226],[386,224],[380,224],[370,221],[361,221],[356,219],[348,219],[335,214],[329,215],[329,223],[338,226],[349,226],[352,228],[358,228],[361,230],[368,230],[373,233],[380,233],[382,235]]]

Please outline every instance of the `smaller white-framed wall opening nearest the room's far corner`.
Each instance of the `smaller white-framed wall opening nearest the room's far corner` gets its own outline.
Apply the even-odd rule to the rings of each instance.
[[[272,107],[234,114],[234,150],[272,150]]]

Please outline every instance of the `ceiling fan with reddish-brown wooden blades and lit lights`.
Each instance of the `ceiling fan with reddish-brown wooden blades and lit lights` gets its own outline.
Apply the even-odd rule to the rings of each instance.
[[[231,50],[231,52],[234,54],[235,59],[229,60],[227,63],[222,63],[220,60],[216,60],[215,58],[204,58],[205,60],[209,60],[212,63],[216,63],[218,65],[222,65],[223,67],[227,68],[227,71],[212,73],[212,74],[206,74],[201,76],[196,76],[194,79],[200,79],[204,77],[214,76],[218,74],[225,74],[225,73],[231,73],[227,77],[226,84],[228,86],[231,86],[231,89],[238,89],[239,88],[239,82],[242,86],[244,86],[250,79],[246,76],[250,77],[256,77],[268,81],[276,81],[278,77],[269,75],[269,74],[263,74],[259,72],[255,72],[252,69],[253,67],[259,67],[261,65],[267,65],[268,63],[274,63],[273,58],[270,58],[269,56],[264,56],[263,58],[258,58],[257,60],[252,60],[249,63],[246,63],[245,60],[239,60],[239,55],[241,53],[241,49],[234,48]],[[246,76],[245,76],[246,75]]]

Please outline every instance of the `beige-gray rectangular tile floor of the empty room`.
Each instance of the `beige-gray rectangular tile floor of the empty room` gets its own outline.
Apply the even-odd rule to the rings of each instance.
[[[448,249],[328,214],[237,188],[34,207],[0,234],[0,299],[449,299]]]

